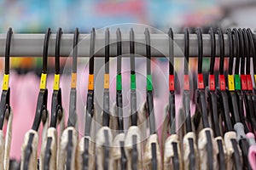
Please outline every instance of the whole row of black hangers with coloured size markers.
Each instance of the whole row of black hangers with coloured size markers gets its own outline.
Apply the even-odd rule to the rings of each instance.
[[[148,118],[149,137],[146,144],[141,144],[140,112],[137,110],[137,90],[135,71],[135,41],[134,31],[130,31],[130,59],[131,59],[131,127],[127,133],[124,129],[123,96],[122,96],[122,39],[121,31],[117,33],[117,77],[116,77],[116,113],[118,134],[113,136],[110,122],[113,121],[109,105],[109,31],[105,32],[105,74],[103,93],[102,128],[96,134],[96,144],[91,140],[91,126],[94,115],[94,54],[96,31],[90,32],[90,64],[89,82],[85,109],[84,137],[79,139],[77,132],[78,121],[76,113],[77,88],[77,55],[79,43],[79,29],[75,30],[73,38],[73,71],[70,89],[70,107],[67,127],[65,128],[64,110],[61,104],[60,88],[60,51],[62,30],[56,33],[55,42],[55,79],[52,94],[51,114],[47,110],[48,89],[47,58],[50,29],[44,38],[43,71],[38,94],[37,110],[29,130],[24,139],[21,153],[21,169],[253,169],[255,167],[255,130],[256,130],[256,95],[250,74],[251,56],[253,56],[253,74],[256,75],[256,55],[253,42],[253,32],[250,29],[228,29],[229,38],[229,71],[224,75],[224,34],[218,29],[219,69],[218,83],[215,81],[215,32],[210,29],[211,62],[208,75],[208,87],[205,86],[202,74],[203,42],[201,30],[196,30],[198,37],[198,69],[197,88],[195,90],[195,114],[191,114],[191,86],[189,82],[189,30],[184,31],[184,71],[183,71],[183,107],[179,114],[185,116],[183,133],[177,129],[175,106],[175,71],[173,32],[169,36],[169,106],[168,116],[170,136],[162,138],[162,151],[155,127],[154,116],[154,88],[151,74],[151,46],[150,33],[145,30],[146,58],[147,58],[147,98],[145,114]],[[7,34],[5,71],[3,76],[3,92],[0,103],[0,130],[4,122],[11,126],[12,111],[9,105],[9,54],[13,31]],[[236,52],[235,52],[236,49]],[[236,62],[234,64],[234,58]],[[235,69],[233,69],[235,65]],[[233,72],[234,70],[234,72]],[[255,78],[255,76],[254,76]],[[227,81],[226,81],[227,79]],[[254,83],[255,83],[254,79]],[[226,86],[228,82],[228,86]],[[111,120],[112,119],[112,120]],[[38,127],[43,124],[43,139],[38,163]],[[60,128],[59,132],[57,128]],[[3,169],[9,169],[9,138],[7,131],[3,156]],[[58,134],[59,133],[59,134]],[[179,134],[183,134],[182,137]],[[129,138],[128,138],[129,136]],[[97,139],[100,142],[97,142]],[[129,141],[128,141],[129,140]],[[131,141],[130,141],[131,140]],[[63,142],[66,141],[66,142]],[[201,144],[202,143],[202,144]],[[130,144],[129,147],[126,144]],[[169,144],[169,145],[168,145]],[[143,146],[140,146],[143,145]],[[130,147],[131,146],[131,147]],[[96,147],[96,148],[95,148]],[[128,152],[127,147],[130,152]],[[142,148],[140,148],[142,147]],[[144,155],[140,152],[144,149]],[[102,151],[103,150],[103,151]],[[116,157],[113,156],[113,150]],[[147,153],[146,153],[147,152]],[[161,153],[162,152],[162,153]],[[170,152],[170,153],[168,153]],[[98,153],[103,153],[99,156]],[[96,156],[95,156],[96,155]],[[141,159],[140,157],[142,157]],[[251,159],[250,156],[254,156]],[[168,158],[168,159],[167,159]],[[146,160],[148,159],[148,160]],[[161,161],[162,160],[162,161]],[[1,164],[1,163],[0,163]],[[143,167],[142,167],[143,166]]]

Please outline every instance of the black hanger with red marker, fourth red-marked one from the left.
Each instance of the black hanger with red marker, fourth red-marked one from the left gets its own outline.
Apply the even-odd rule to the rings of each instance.
[[[216,41],[215,34],[212,28],[210,28],[210,37],[211,37],[211,63],[209,71],[209,87],[207,88],[207,107],[212,115],[212,128],[215,137],[222,136],[219,127],[219,114],[218,114],[218,105],[217,105],[217,95],[215,94],[215,75],[214,75],[214,64],[215,64],[215,54],[216,54]],[[218,164],[219,169],[225,169],[225,159],[224,159],[224,147],[221,139],[217,139],[218,144]]]

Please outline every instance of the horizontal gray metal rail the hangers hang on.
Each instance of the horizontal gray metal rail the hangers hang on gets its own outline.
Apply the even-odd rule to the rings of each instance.
[[[104,56],[105,35],[96,33],[96,56]],[[174,54],[176,57],[183,57],[183,34],[174,35]],[[4,56],[6,34],[0,34],[0,56]],[[88,57],[90,49],[90,35],[80,34],[79,36],[79,57]],[[123,54],[129,54],[129,34],[122,34]],[[145,56],[145,36],[144,34],[136,34],[136,53]],[[116,55],[116,34],[110,34],[110,55]],[[218,35],[216,35],[217,55]],[[229,54],[228,37],[224,34],[225,55]],[[42,56],[44,46],[44,34],[14,34],[11,44],[11,56]],[[151,34],[152,55],[154,57],[168,56],[168,37],[166,34]],[[203,54],[210,56],[211,42],[210,35],[203,34]],[[71,54],[73,48],[73,34],[63,34],[61,37],[61,56],[67,57]],[[197,37],[195,34],[189,35],[189,52],[190,56],[197,55]],[[55,34],[50,36],[49,40],[49,56],[55,54]]]

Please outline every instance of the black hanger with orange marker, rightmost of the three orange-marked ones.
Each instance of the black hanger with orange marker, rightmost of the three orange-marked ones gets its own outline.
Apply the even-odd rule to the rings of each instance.
[[[109,126],[109,30],[105,31],[105,74],[102,125]]]

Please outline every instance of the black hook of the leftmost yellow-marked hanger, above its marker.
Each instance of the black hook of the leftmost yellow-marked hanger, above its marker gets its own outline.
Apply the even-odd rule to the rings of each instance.
[[[6,37],[6,45],[5,45],[5,74],[9,74],[9,55],[10,55],[10,46],[11,39],[13,35],[13,29],[9,27]]]

